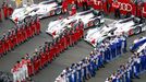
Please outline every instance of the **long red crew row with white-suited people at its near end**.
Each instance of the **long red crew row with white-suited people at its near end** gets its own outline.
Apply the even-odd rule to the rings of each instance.
[[[36,74],[48,62],[51,62],[60,52],[68,49],[68,47],[77,43],[84,35],[84,25],[80,20],[75,28],[65,30],[59,37],[52,42],[46,42],[39,49],[35,49],[32,55],[26,54],[21,61],[17,61],[12,68],[13,82],[24,81],[28,77]]]

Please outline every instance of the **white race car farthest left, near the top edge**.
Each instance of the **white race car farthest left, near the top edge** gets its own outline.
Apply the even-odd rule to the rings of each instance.
[[[38,4],[15,9],[11,15],[13,22],[23,21],[27,16],[38,15],[39,19],[61,14],[62,5],[53,0],[42,1]]]

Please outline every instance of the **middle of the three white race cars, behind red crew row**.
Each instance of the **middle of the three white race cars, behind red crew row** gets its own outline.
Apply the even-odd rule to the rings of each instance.
[[[78,20],[83,21],[84,28],[96,26],[105,22],[101,12],[95,10],[88,10],[61,20],[51,21],[48,24],[46,33],[50,34],[52,37],[56,37],[60,35],[68,27],[68,25],[71,25],[77,22]]]

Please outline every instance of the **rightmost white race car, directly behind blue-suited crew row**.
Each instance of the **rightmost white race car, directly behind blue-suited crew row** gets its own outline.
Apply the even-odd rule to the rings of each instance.
[[[101,43],[106,37],[109,37],[111,33],[113,35],[124,34],[131,36],[146,31],[145,21],[137,17],[127,17],[124,20],[115,21],[109,25],[99,26],[89,30],[85,36],[85,40],[96,47],[97,44]]]

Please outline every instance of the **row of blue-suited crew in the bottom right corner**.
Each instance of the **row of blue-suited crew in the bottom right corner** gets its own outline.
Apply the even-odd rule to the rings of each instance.
[[[139,79],[139,74],[146,70],[146,47],[141,52],[134,52],[125,65],[113,72],[105,82],[132,82]]]

